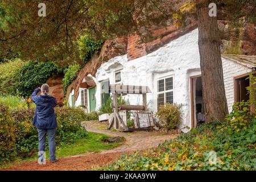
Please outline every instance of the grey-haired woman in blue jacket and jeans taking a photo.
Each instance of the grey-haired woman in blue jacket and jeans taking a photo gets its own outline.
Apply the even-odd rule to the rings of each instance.
[[[40,96],[37,94],[41,91]],[[36,104],[35,115],[32,124],[38,128],[39,154],[45,151],[46,134],[49,143],[49,159],[51,162],[58,162],[55,155],[55,133],[57,127],[56,115],[53,107],[57,105],[54,97],[49,96],[49,85],[43,84],[41,88],[34,90],[31,100]],[[39,156],[40,157],[40,156]]]

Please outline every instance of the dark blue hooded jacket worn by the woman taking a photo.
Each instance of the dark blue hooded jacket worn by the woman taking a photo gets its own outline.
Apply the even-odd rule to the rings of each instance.
[[[32,125],[38,129],[55,129],[57,127],[56,115],[53,107],[57,102],[52,96],[37,96],[40,89],[35,89],[31,95],[31,100],[36,104],[36,110]]]

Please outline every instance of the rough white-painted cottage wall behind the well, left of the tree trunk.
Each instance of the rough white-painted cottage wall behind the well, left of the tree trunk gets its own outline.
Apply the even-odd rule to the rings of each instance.
[[[189,102],[189,77],[200,72],[200,57],[197,44],[198,30],[168,43],[166,46],[138,59],[127,61],[127,55],[114,57],[101,65],[96,73],[96,80],[109,78],[114,84],[114,71],[117,65],[122,65],[121,80],[127,85],[147,85],[152,93],[147,94],[147,102],[152,110],[156,111],[156,84],[155,80],[161,74],[174,75],[174,102],[182,104],[182,125],[191,126]],[[100,84],[97,83],[96,98],[100,98]],[[142,104],[142,97],[135,94],[125,96],[130,104]],[[100,107],[97,99],[96,109]]]

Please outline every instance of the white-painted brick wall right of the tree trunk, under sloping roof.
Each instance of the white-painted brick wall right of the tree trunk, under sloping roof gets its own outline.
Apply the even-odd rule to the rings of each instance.
[[[228,59],[222,58],[223,77],[228,102],[229,112],[232,111],[234,104],[234,77],[251,72],[251,69]]]

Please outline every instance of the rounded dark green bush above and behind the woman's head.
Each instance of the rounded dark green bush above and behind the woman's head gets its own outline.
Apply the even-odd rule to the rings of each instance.
[[[62,69],[52,62],[28,61],[22,68],[18,69],[18,72],[19,74],[16,76],[18,94],[27,97],[31,95],[35,88],[44,84],[49,76],[53,73],[62,72]]]

